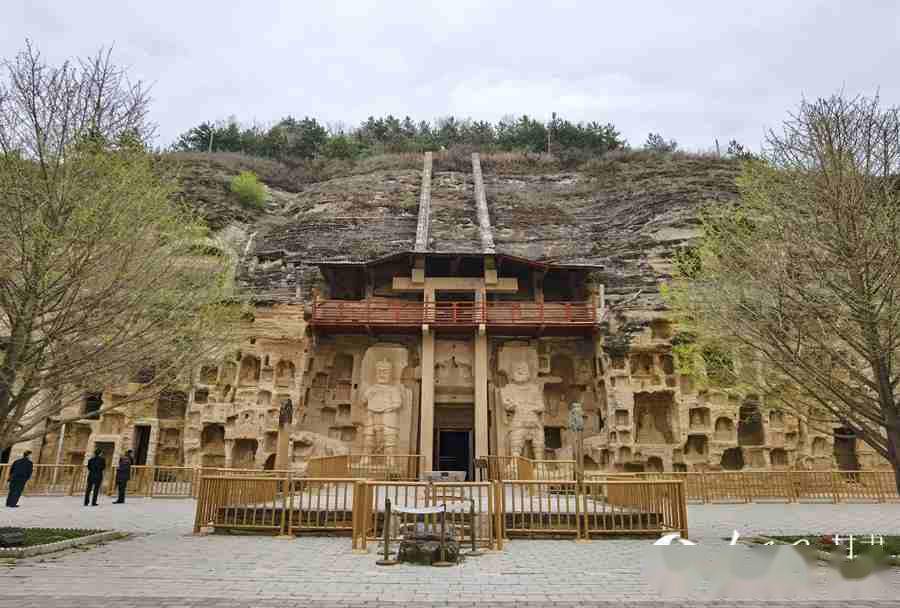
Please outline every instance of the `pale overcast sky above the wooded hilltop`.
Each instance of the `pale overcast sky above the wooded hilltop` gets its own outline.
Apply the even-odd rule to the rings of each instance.
[[[893,0],[3,0],[0,56],[114,44],[160,145],[203,120],[355,125],[507,114],[614,123],[632,145],[757,148],[802,96],[900,104]],[[743,6],[739,6],[742,4]]]

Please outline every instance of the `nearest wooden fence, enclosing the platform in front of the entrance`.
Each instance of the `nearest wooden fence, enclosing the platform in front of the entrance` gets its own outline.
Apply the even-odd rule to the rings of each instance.
[[[194,530],[281,535],[349,534],[354,549],[423,528],[441,516],[410,510],[446,505],[445,524],[462,543],[502,549],[505,538],[660,534],[687,536],[684,482],[677,480],[504,480],[431,483],[363,479],[205,476]],[[392,505],[390,518],[387,502]]]

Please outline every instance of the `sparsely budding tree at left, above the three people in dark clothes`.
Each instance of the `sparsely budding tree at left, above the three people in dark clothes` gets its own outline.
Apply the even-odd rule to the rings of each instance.
[[[2,68],[0,449],[85,391],[152,397],[222,347],[233,309],[227,252],[146,151],[146,88],[109,51],[53,67],[27,43]]]

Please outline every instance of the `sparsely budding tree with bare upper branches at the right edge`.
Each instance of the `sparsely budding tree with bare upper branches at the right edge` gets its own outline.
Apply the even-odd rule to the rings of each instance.
[[[900,111],[804,102],[710,207],[672,301],[744,382],[812,425],[848,428],[900,489]]]

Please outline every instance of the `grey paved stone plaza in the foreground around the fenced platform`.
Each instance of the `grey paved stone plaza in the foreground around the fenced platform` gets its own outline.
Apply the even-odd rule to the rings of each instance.
[[[104,528],[135,535],[90,549],[0,566],[0,608],[17,606],[380,606],[380,605],[775,605],[747,585],[727,594],[664,591],[652,583],[649,540],[517,540],[502,553],[458,567],[375,566],[374,551],[353,555],[349,538],[193,536],[192,500],[141,499],[84,508],[79,497],[26,497],[0,525]],[[691,537],[721,559],[751,559],[760,549],[728,547],[734,529],[802,534],[900,534],[900,505],[756,504],[689,508]],[[679,548],[679,550],[684,550]],[[693,548],[691,548],[693,550]],[[897,605],[900,575],[829,585],[820,567],[793,606]]]

